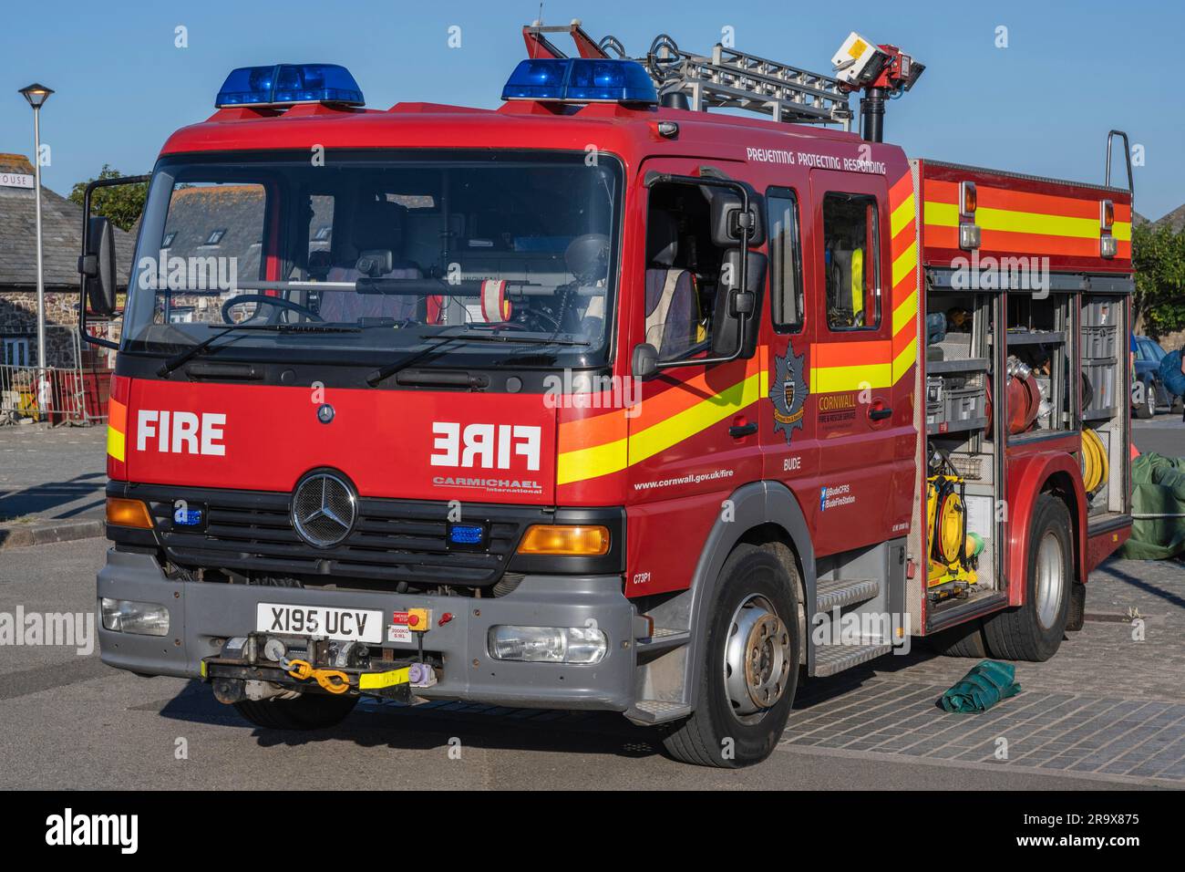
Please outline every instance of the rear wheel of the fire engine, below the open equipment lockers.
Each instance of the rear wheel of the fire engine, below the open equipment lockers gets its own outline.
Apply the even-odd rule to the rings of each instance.
[[[1071,529],[1065,503],[1042,494],[1029,530],[1025,604],[984,619],[992,656],[1039,662],[1052,657],[1062,644],[1074,583]]]

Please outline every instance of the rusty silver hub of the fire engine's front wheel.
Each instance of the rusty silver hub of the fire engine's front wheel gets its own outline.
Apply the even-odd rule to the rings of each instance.
[[[750,597],[732,616],[724,650],[724,686],[738,718],[777,705],[789,680],[790,634],[764,597]]]

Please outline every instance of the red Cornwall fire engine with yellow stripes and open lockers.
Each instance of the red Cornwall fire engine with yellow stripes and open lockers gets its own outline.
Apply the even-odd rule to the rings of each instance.
[[[130,179],[103,661],[268,727],[606,709],[732,766],[800,673],[1052,656],[1130,523],[1110,139],[1103,185],[907,158],[922,65],[854,33],[833,76],[524,38],[493,110],[236,70]]]

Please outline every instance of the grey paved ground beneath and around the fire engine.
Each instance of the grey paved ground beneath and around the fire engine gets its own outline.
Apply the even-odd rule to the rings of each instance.
[[[5,552],[0,612],[92,609],[104,548]],[[1090,591],[1085,629],[1018,664],[1024,689],[992,712],[944,714],[939,694],[972,661],[915,649],[808,682],[779,750],[739,772],[672,763],[617,715],[364,705],[333,731],[261,731],[198,683],[0,647],[0,789],[1185,787],[1185,566],[1110,561]]]

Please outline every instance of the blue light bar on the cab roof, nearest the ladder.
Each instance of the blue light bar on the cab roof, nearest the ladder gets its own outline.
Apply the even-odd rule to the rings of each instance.
[[[636,61],[538,58],[523,61],[502,88],[502,100],[563,103],[647,103],[659,96]]]

